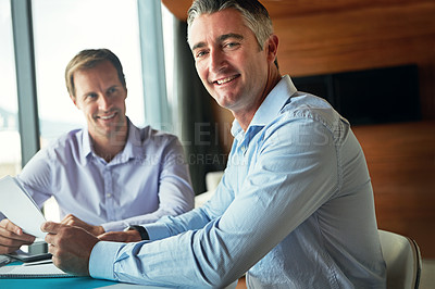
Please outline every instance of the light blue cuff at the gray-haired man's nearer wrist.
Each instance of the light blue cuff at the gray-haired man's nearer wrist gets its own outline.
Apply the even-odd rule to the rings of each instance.
[[[89,259],[89,275],[92,278],[115,280],[113,266],[122,242],[99,241],[92,248]]]

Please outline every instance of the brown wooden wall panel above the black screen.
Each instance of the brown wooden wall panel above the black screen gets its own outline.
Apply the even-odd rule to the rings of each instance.
[[[435,118],[435,2],[274,20],[283,74],[417,63],[424,118]],[[349,96],[351,97],[351,96]]]

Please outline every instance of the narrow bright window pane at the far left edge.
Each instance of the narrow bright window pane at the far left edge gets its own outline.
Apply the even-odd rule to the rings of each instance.
[[[0,177],[21,171],[21,139],[16,95],[11,5],[0,0]]]

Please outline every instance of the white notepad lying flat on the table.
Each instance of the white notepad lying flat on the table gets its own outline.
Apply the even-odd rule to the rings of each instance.
[[[58,268],[52,262],[40,262],[37,264],[9,265],[0,267],[0,278],[60,278],[75,277]]]

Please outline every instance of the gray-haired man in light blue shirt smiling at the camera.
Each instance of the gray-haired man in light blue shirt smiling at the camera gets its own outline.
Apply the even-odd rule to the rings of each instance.
[[[264,7],[196,0],[188,42],[204,87],[235,117],[215,194],[202,208],[144,225],[142,241],[136,231],[99,240],[46,223],[54,263],[158,286],[221,288],[246,273],[249,288],[385,288],[361,147],[326,101],[281,75]],[[69,244],[69,235],[82,242]]]

